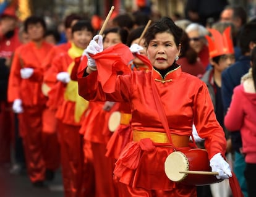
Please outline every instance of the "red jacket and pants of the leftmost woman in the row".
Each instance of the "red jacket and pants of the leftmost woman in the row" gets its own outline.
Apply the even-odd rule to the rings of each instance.
[[[20,135],[32,182],[44,180],[46,167],[51,169],[51,161],[45,158],[56,158],[54,151],[46,152],[46,138],[49,136],[42,135],[46,97],[41,92],[44,73],[41,62],[52,47],[46,42],[41,43],[40,47],[33,42],[20,46],[15,51],[9,78],[9,101],[13,102],[18,98],[22,100],[23,113],[19,114]],[[20,69],[23,67],[34,69],[32,77],[20,77]]]

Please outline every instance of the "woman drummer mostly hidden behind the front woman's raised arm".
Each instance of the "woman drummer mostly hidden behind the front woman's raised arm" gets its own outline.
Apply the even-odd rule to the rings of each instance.
[[[134,54],[134,59],[128,65],[130,70],[144,70],[146,72],[149,70],[148,65],[146,65],[141,59],[139,59],[142,56],[147,59],[145,46],[143,46],[144,40],[140,39],[140,36],[142,35],[144,29],[145,27],[143,26],[137,27],[134,30],[130,31],[127,37],[127,46],[130,47],[130,51]],[[118,119],[114,120],[117,118],[116,113],[120,113],[119,123],[117,122]],[[118,159],[122,149],[130,141],[130,135],[132,134],[132,130],[130,128],[131,118],[131,107],[130,103],[128,102],[120,103],[117,112],[113,112],[113,114],[111,114],[111,117],[109,119],[109,127],[113,127],[113,130],[111,131],[113,131],[114,133],[109,139],[106,146],[106,156]],[[112,125],[111,121],[113,121]]]

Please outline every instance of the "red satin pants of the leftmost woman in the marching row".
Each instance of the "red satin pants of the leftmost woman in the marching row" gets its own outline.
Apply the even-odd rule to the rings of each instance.
[[[45,180],[45,170],[59,167],[57,134],[43,132],[44,106],[23,106],[19,114],[20,136],[31,182]]]

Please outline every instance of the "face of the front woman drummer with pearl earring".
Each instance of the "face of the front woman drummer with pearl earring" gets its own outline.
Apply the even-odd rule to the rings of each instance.
[[[147,48],[148,59],[157,69],[167,69],[173,64],[175,57],[179,56],[181,44],[176,46],[171,33],[156,33]]]

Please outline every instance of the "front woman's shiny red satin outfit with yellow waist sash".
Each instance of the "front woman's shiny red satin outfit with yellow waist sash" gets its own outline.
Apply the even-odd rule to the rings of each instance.
[[[97,81],[97,73],[93,72],[87,77],[83,77],[82,72],[79,73],[79,93],[83,98],[132,103],[131,125],[133,130],[138,131],[138,135],[124,148],[114,171],[119,182],[128,185],[127,196],[147,196],[148,192],[144,190],[150,190],[159,196],[196,196],[195,187],[176,184],[166,177],[164,161],[173,152],[173,148],[166,147],[164,141],[154,137],[154,134],[147,134],[165,133],[155,106],[151,78],[153,77],[160,94],[169,132],[180,136],[192,135],[194,122],[199,135],[205,138],[205,148],[210,159],[216,153],[224,155],[226,140],[223,129],[216,121],[205,84],[182,72],[181,67],[168,72],[164,78],[153,69],[147,73],[139,71],[130,75],[118,75],[114,82],[114,92],[105,93]],[[190,88],[185,88],[187,86]],[[151,138],[153,143],[144,139],[146,137]]]

